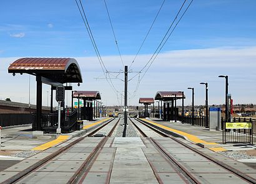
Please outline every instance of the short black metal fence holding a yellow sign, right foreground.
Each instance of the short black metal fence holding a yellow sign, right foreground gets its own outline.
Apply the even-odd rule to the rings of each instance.
[[[254,142],[254,125],[255,121],[253,122],[251,118],[234,118],[232,123],[237,122],[247,122],[249,123],[249,127],[245,128],[228,128],[226,127],[225,119],[222,117],[222,143],[249,143],[253,144]]]

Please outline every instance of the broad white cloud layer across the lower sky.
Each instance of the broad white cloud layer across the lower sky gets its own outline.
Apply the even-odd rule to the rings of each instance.
[[[28,56],[29,57],[29,56]],[[72,56],[69,56],[72,57]],[[133,71],[139,71],[147,63],[151,55],[139,55],[132,65]],[[122,55],[125,65],[130,64],[134,55]],[[256,103],[254,81],[256,78],[256,47],[247,48],[207,48],[193,50],[174,50],[160,53],[159,57],[152,63],[149,71],[145,74],[140,83],[137,95],[134,98],[128,96],[130,104],[136,104],[139,97],[154,97],[157,91],[185,91],[185,104],[191,104],[191,91],[187,87],[195,88],[195,104],[204,104],[204,86],[200,82],[209,83],[209,104],[223,104],[225,101],[225,81],[218,78],[218,75],[229,75],[229,93],[232,93],[234,103]],[[0,58],[0,83],[4,90],[0,91],[0,97],[6,98],[11,95],[14,101],[19,101],[16,91],[24,91],[24,100],[27,100],[28,86],[27,75],[16,75],[13,77],[7,73],[9,63],[17,58]],[[97,57],[76,57],[81,68],[83,83],[78,87],[74,84],[74,90],[98,90],[102,93],[104,103],[108,105],[118,104],[116,94],[112,91],[109,83],[104,78],[95,80],[97,77],[103,77]],[[107,70],[124,70],[119,55],[102,56],[102,60]],[[140,77],[144,73],[141,73]],[[117,73],[112,73],[117,75]],[[135,73],[129,73],[129,79]],[[124,73],[119,76],[124,79]],[[120,80],[112,80],[118,91],[124,90],[124,83]],[[33,90],[36,90],[36,81],[33,83]],[[128,90],[130,93],[135,90],[137,77],[129,82]],[[43,94],[47,94],[49,86],[45,85]],[[122,92],[121,92],[122,93]],[[34,101],[35,94],[31,93]],[[23,97],[23,96],[22,96]],[[46,97],[43,104],[47,104]],[[70,96],[69,96],[70,101]],[[119,95],[119,101],[120,95]],[[180,104],[180,101],[177,102]],[[123,101],[122,101],[123,104]]]

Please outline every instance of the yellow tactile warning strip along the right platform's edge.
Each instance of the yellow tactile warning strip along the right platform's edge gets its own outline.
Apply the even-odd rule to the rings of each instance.
[[[185,137],[187,137],[187,139],[191,140],[192,142],[195,142],[195,144],[196,143],[201,143],[201,144],[208,144],[208,145],[217,145],[217,143],[215,143],[215,142],[207,142],[205,140],[199,139],[197,136],[188,134],[186,132],[178,131],[176,129],[171,129],[170,127],[163,126],[163,125],[158,124],[156,122],[149,121],[148,119],[143,119],[143,121],[149,122],[151,124],[154,124],[155,126],[159,126],[159,127],[163,128],[163,129],[166,129],[168,131],[172,131],[172,132],[175,132],[175,133],[180,134],[182,136],[185,136]],[[214,150],[215,152],[220,152],[220,151],[224,151],[225,150],[222,147],[215,147],[215,148],[210,148],[210,149]]]

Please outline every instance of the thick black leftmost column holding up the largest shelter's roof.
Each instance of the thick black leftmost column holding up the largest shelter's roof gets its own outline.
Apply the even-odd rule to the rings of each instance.
[[[32,124],[33,131],[41,131],[41,119],[42,119],[42,78],[36,76],[36,122]]]

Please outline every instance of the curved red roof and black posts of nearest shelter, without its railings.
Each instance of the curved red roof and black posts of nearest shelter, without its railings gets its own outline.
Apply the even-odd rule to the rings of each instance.
[[[16,73],[21,75],[27,73],[36,76],[36,119],[32,122],[33,131],[43,130],[42,83],[52,86],[51,113],[52,94],[56,86],[63,85],[64,83],[82,83],[81,70],[74,58],[20,58],[9,66],[8,73],[12,73],[13,76]],[[68,88],[72,87],[69,86],[66,89]],[[64,102],[62,102],[62,106],[64,106]],[[64,118],[61,117],[61,119]]]

